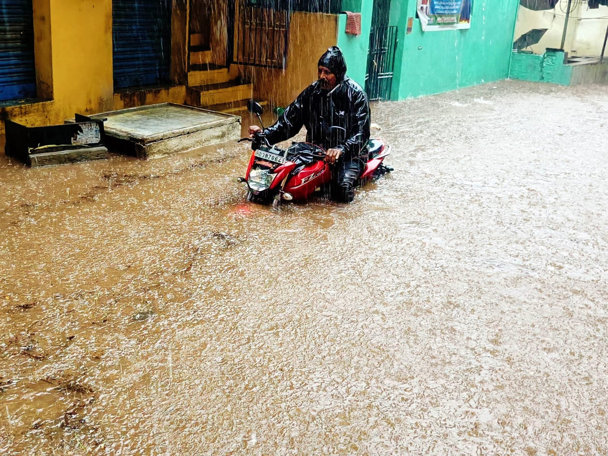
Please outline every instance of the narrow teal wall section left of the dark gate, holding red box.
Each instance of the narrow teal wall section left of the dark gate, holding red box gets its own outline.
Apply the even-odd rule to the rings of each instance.
[[[337,45],[342,49],[346,59],[348,76],[357,81],[361,87],[365,87],[373,0],[345,0],[342,7],[345,11],[361,13],[361,35],[357,36],[347,35],[344,32],[346,29],[346,15],[339,15]],[[358,7],[360,10],[357,10]]]

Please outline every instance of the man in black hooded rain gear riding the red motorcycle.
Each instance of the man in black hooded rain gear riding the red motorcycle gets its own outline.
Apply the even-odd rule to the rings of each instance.
[[[346,75],[346,62],[339,47],[331,46],[321,56],[318,80],[298,95],[277,122],[263,132],[249,127],[250,137],[263,133],[270,144],[285,141],[306,126],[306,141],[326,150],[333,164],[333,198],[354,199],[354,187],[365,169],[370,139],[370,108],[367,95]]]

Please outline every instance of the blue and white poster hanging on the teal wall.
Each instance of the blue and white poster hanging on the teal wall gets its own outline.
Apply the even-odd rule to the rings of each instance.
[[[418,0],[424,32],[471,28],[473,0]]]

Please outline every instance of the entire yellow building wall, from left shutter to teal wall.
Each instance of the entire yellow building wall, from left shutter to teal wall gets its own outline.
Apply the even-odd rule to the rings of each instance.
[[[225,0],[221,2],[224,7]],[[173,0],[171,79],[175,86],[114,94],[112,0],[33,0],[41,100],[0,108],[0,120],[10,118],[28,126],[57,125],[74,117],[75,112],[94,114],[153,103],[184,103],[187,12],[186,0]],[[254,84],[255,98],[286,106],[316,80],[320,55],[336,41],[336,15],[297,12],[291,18],[285,71],[260,67],[240,67],[238,71]],[[235,68],[231,74],[238,74]],[[4,123],[0,122],[3,133]]]

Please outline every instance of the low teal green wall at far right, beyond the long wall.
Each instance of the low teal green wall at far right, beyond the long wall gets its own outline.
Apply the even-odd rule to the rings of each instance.
[[[564,52],[561,51],[547,51],[544,55],[513,52],[509,77],[568,86],[572,80],[572,66],[564,65]]]

